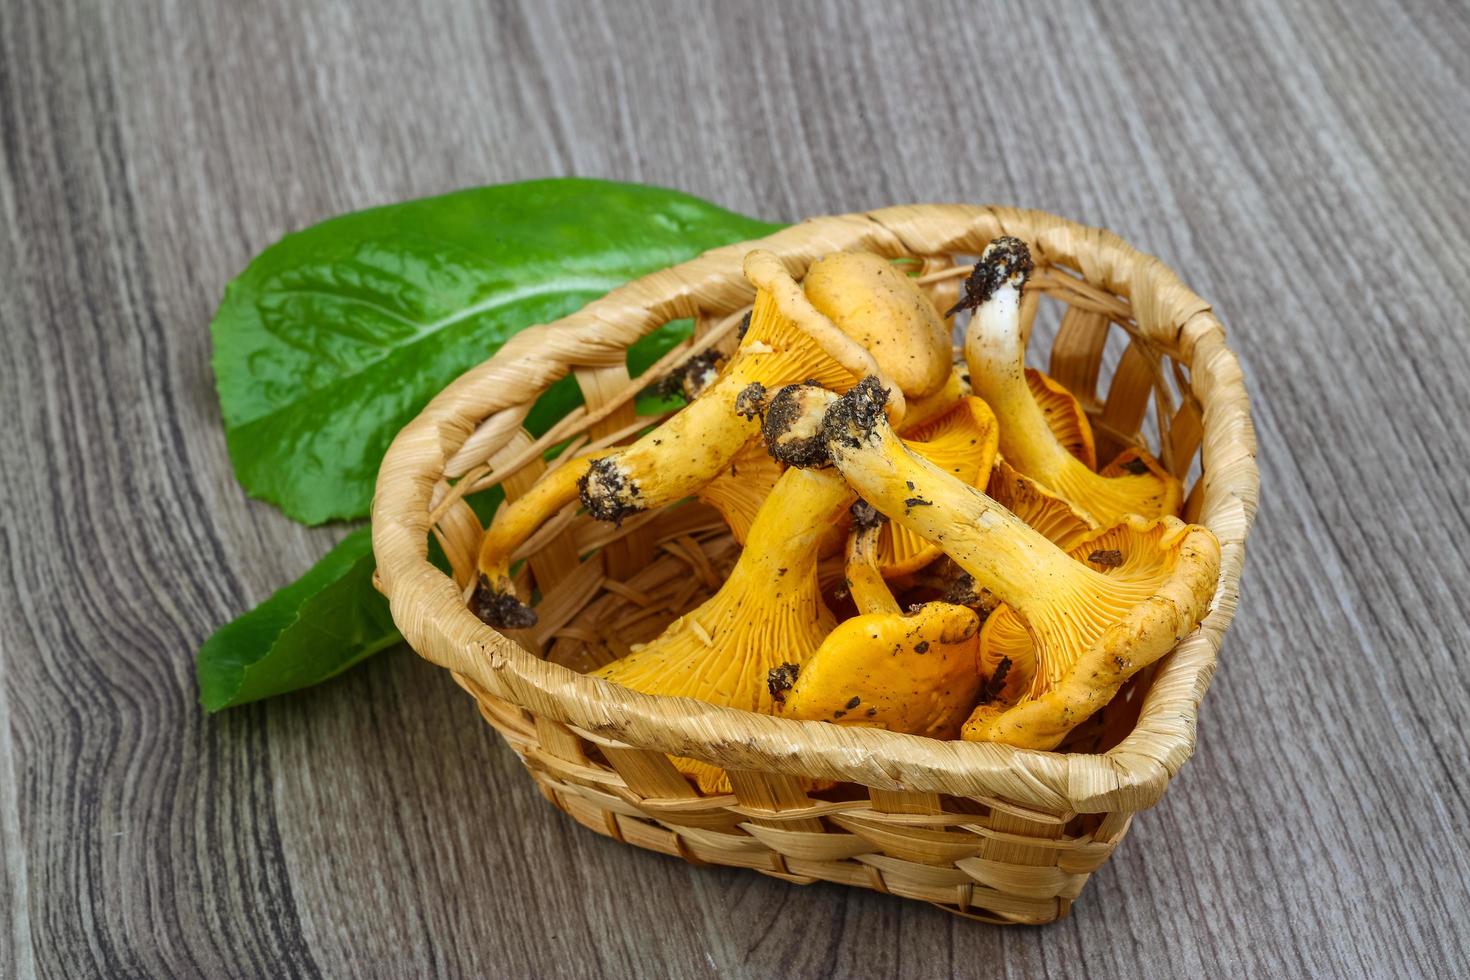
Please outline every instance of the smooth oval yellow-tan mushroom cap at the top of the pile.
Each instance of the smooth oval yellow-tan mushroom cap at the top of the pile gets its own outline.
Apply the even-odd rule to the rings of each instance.
[[[950,376],[950,328],[914,279],[867,251],[835,251],[807,269],[803,291],[838,329],[873,354],[904,395],[939,391]]]

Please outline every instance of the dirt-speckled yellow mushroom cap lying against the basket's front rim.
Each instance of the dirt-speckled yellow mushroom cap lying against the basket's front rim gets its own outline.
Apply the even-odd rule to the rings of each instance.
[[[845,620],[797,670],[781,714],[953,739],[980,685],[978,624],[947,602]]]

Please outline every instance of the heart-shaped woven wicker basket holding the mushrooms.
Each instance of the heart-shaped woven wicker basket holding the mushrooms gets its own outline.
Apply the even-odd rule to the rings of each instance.
[[[1098,457],[1148,433],[1186,479],[1186,517],[1219,536],[1222,577],[1202,627],[1135,677],[1067,751],[1038,752],[791,721],[584,676],[656,636],[729,570],[736,548],[697,502],[622,527],[560,514],[523,550],[519,585],[539,595],[538,626],[513,636],[484,626],[465,605],[482,533],[465,494],[503,483],[514,497],[545,472],[550,447],[570,439],[566,458],[647,426],[634,395],[692,353],[729,342],[751,303],[741,259],[754,244],[719,248],[517,335],[398,433],[378,478],[373,548],[394,620],[473,695],[547,799],[598,833],[691,862],[857,884],[998,923],[1064,915],[1132,815],[1160,799],[1194,748],[1257,498],[1241,369],[1210,306],[1116,235],[1041,212],[889,207],[813,219],[759,244],[797,276],[842,248],[922,262],[922,282],[944,309],[963,257],[1003,234],[1030,242],[1038,262],[1023,314],[1060,310],[1050,373],[1092,417]],[[681,317],[695,320],[692,345],[629,379],[626,348]],[[1101,367],[1125,345],[1100,392]],[[532,439],[522,428],[531,404],[569,372],[585,408]],[[431,533],[453,580],[425,557]],[[701,795],[669,755],[723,767],[734,792]],[[804,792],[811,780],[835,786]]]

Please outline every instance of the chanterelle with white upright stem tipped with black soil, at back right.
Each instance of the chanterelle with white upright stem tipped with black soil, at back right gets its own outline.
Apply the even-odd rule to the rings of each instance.
[[[975,310],[964,339],[975,394],[1001,423],[1001,455],[1016,470],[1067,500],[1094,527],[1111,527],[1126,514],[1160,517],[1179,511],[1179,480],[1147,454],[1141,466],[1101,475],[1057,439],[1026,383],[1026,345],[1020,329],[1020,289],[1032,260],[1019,238],[997,238],[980,254],[956,309]]]

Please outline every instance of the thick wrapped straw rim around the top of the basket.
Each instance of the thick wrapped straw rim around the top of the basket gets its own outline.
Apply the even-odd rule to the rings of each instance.
[[[670,319],[748,304],[753,289],[741,276],[741,259],[751,248],[776,253],[800,276],[813,259],[835,250],[976,254],[1003,234],[1029,241],[1044,262],[1130,300],[1139,336],[1188,366],[1202,410],[1198,520],[1220,539],[1220,583],[1201,629],[1161,661],[1133,730],[1113,749],[1063,754],[939,742],[644,695],[526,652],[481,623],[454,582],[428,561],[435,485],[472,433],[485,458],[516,432],[529,403],[573,367],[620,364],[632,341]],[[592,741],[723,768],[1000,798],[1050,813],[1133,811],[1158,801],[1194,749],[1200,698],[1239,595],[1257,494],[1255,435],[1239,364],[1210,306],[1164,263],[1113,232],[1045,212],[916,204],[814,217],[716,248],[623,285],[562,320],[522,331],[450,383],[392,441],[378,473],[372,539],[379,588],[419,655]]]

